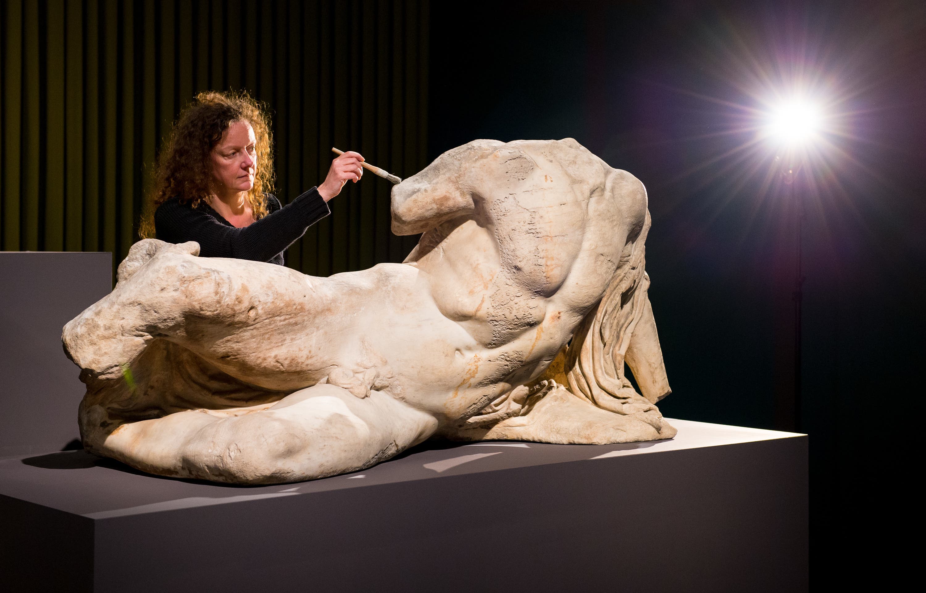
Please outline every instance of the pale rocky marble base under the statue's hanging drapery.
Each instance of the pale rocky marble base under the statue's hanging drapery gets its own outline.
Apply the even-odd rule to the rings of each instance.
[[[652,441],[675,436],[676,430],[651,412],[618,414],[576,397],[563,385],[544,395],[522,416],[492,426],[457,428],[442,433],[454,440],[519,440],[540,443],[605,445]]]

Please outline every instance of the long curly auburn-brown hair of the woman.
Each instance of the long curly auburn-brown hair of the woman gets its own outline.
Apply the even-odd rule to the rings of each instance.
[[[209,154],[236,121],[251,124],[257,138],[257,171],[247,201],[255,219],[267,214],[267,194],[273,191],[273,138],[265,108],[244,91],[210,91],[183,107],[157,156],[138,231],[142,238],[154,238],[155,210],[170,198],[180,196],[194,208],[211,201]]]

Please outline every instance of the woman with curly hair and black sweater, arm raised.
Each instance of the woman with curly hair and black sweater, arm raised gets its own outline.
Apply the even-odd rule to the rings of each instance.
[[[283,264],[283,251],[331,210],[327,202],[363,175],[356,152],[332,161],[325,181],[285,207],[272,196],[269,118],[245,93],[200,93],[161,151],[140,234],[195,241],[206,258]]]

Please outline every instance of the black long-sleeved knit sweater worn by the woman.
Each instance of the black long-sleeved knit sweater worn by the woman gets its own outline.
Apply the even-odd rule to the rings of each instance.
[[[205,202],[193,208],[174,197],[155,211],[155,236],[168,243],[195,241],[203,258],[253,259],[282,266],[286,247],[331,213],[315,187],[286,206],[268,194],[267,209],[267,216],[239,229]]]

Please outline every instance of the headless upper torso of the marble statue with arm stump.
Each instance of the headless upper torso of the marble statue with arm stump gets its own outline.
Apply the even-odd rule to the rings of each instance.
[[[643,227],[645,192],[571,140],[477,141],[419,175],[394,189],[394,227],[448,219],[406,261],[427,273],[444,316],[482,347],[483,369],[466,379],[481,393],[464,406],[455,397],[448,410],[466,415],[499,395],[482,383],[526,383],[569,341],[626,259],[627,237]]]

